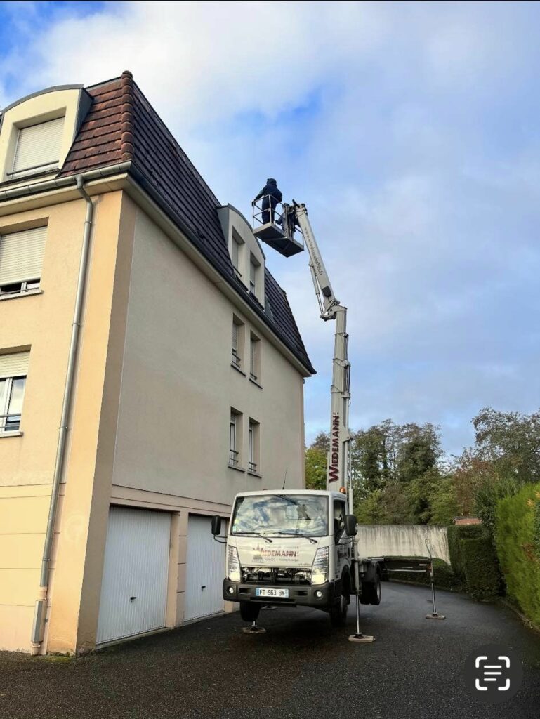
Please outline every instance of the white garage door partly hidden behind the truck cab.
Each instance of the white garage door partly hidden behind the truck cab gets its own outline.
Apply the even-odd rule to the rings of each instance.
[[[225,545],[214,541],[210,528],[209,517],[189,516],[185,619],[223,611]]]

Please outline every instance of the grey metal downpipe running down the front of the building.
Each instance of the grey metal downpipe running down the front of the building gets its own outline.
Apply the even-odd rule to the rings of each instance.
[[[127,163],[129,164],[129,163]],[[118,165],[115,166],[116,168]],[[105,168],[108,169],[108,168]],[[101,170],[103,171],[103,170]],[[116,173],[118,170],[114,170]],[[95,171],[94,171],[95,172]],[[112,173],[111,173],[112,174]],[[64,398],[62,404],[62,417],[60,429],[58,430],[58,447],[56,450],[55,471],[52,477],[52,490],[50,495],[49,516],[47,518],[47,530],[45,533],[45,544],[43,546],[43,557],[41,563],[40,591],[35,604],[34,621],[32,624],[32,654],[39,654],[40,646],[45,634],[45,615],[47,613],[47,594],[49,590],[50,559],[52,550],[52,539],[55,531],[56,510],[58,508],[58,496],[60,493],[60,480],[62,478],[63,464],[65,459],[65,443],[68,436],[68,419],[73,393],[75,365],[77,360],[78,338],[81,331],[81,318],[83,314],[83,294],[86,285],[86,270],[88,266],[88,250],[90,248],[90,236],[93,221],[93,202],[84,188],[85,180],[91,173],[77,175],[68,178],[70,183],[75,181],[76,188],[86,202],[86,218],[83,229],[83,247],[81,249],[81,262],[77,281],[77,293],[75,295],[75,308],[73,311],[73,324],[71,326],[71,340],[68,355],[68,369],[65,376]],[[99,175],[103,176],[103,175]],[[62,178],[63,179],[63,178]],[[45,184],[45,183],[41,183]],[[20,189],[20,188],[19,188]]]

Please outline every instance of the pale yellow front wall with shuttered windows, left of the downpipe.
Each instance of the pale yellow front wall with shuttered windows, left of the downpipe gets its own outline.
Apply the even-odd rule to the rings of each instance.
[[[42,293],[0,301],[0,352],[30,349],[23,436],[0,435],[0,649],[30,649],[84,214],[75,201],[0,218],[0,234],[48,223]]]

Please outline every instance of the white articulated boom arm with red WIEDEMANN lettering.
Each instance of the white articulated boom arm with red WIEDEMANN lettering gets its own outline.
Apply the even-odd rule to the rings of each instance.
[[[319,252],[319,247],[311,229],[308,211],[305,205],[293,205],[286,209],[292,211],[292,221],[300,227],[304,243],[309,253],[309,268],[313,278],[315,293],[321,309],[321,318],[334,319],[336,331],[334,335],[334,362],[332,366],[331,385],[331,420],[330,420],[330,451],[328,454],[326,489],[339,490],[347,487],[349,513],[352,514],[352,482],[350,477],[350,363],[349,335],[347,334],[347,308],[339,304],[334,295],[326,267]],[[289,223],[291,224],[291,223]]]

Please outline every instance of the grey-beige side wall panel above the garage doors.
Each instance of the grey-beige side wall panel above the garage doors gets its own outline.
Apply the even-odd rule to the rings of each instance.
[[[303,485],[303,378],[261,339],[262,388],[231,366],[233,313],[250,322],[139,211],[114,484],[230,505],[239,491]],[[260,474],[232,469],[229,413],[260,426]]]

